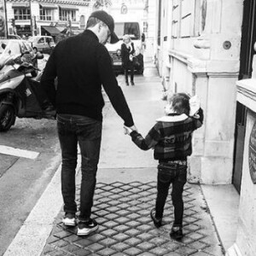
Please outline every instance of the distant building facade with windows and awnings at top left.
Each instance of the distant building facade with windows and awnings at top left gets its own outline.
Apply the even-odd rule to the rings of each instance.
[[[6,0],[8,34],[55,37],[64,29],[75,34],[84,29],[91,9],[90,0]]]

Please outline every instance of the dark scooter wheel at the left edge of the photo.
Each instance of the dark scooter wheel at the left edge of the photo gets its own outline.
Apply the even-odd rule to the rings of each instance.
[[[7,104],[0,106],[0,131],[8,131],[15,124],[15,109]]]

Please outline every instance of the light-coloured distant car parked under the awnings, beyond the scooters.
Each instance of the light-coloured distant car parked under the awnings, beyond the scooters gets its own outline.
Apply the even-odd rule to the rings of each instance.
[[[45,54],[50,54],[52,49],[55,48],[55,41],[49,36],[34,36],[28,38],[28,42],[31,44],[32,49],[36,49]]]

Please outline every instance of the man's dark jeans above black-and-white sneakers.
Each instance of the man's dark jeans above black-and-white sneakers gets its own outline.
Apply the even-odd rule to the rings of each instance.
[[[96,172],[102,141],[102,122],[73,114],[57,115],[61,143],[61,192],[64,212],[77,212],[75,202],[75,170],[78,143],[81,151],[82,182],[80,190],[80,220],[89,220],[96,187]]]

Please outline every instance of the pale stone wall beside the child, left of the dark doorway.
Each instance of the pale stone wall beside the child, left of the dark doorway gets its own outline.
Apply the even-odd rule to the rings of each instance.
[[[189,159],[192,183],[231,183],[242,2],[172,0],[168,91],[199,95],[205,113]]]

